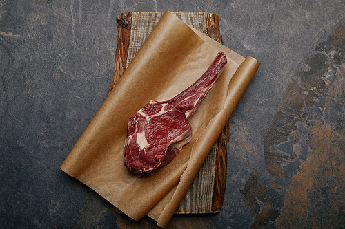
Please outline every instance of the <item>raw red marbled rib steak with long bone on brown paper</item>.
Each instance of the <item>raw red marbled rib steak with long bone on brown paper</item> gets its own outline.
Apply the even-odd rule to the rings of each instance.
[[[128,120],[124,164],[138,177],[153,175],[166,166],[192,139],[188,122],[226,65],[219,52],[207,71],[174,98],[151,100]]]

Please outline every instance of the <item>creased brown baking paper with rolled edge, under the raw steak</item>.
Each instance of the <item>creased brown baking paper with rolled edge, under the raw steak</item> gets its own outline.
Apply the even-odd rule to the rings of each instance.
[[[123,155],[128,118],[152,99],[168,100],[184,91],[219,50],[228,64],[190,118],[191,142],[155,175],[130,173]],[[258,67],[254,58],[236,54],[165,12],[61,169],[132,219],[147,214],[165,227]]]

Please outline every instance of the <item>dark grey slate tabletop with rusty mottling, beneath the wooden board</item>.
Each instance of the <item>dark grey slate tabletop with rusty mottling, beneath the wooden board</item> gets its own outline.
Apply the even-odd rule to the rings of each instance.
[[[345,1],[0,1],[0,228],[156,228],[59,169],[108,95],[116,16],[211,12],[262,63],[230,117],[224,208],[168,228],[344,228]]]

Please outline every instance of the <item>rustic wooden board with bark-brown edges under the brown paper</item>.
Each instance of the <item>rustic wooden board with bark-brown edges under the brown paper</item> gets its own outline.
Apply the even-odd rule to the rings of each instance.
[[[126,12],[117,15],[115,70],[109,93],[163,14],[164,12]],[[187,25],[222,43],[218,15],[206,12],[173,14]],[[226,124],[177,208],[176,214],[214,213],[221,210],[226,188],[228,139],[229,126]]]

